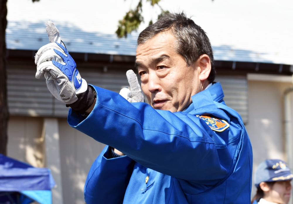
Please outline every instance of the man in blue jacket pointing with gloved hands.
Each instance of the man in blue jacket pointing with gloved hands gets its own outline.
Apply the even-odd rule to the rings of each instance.
[[[51,43],[35,56],[36,78],[44,75],[71,107],[70,126],[106,144],[86,179],[87,204],[250,203],[251,143],[214,82],[200,26],[169,13],[140,33],[135,66],[149,104],[131,84],[121,95],[88,85],[57,28],[47,28]]]

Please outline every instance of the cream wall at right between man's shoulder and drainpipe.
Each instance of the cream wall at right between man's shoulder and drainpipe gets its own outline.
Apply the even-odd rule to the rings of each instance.
[[[249,122],[246,129],[253,148],[253,174],[265,159],[282,159],[292,167],[286,154],[283,105],[284,91],[291,87],[291,81],[290,76],[248,75]],[[253,184],[252,196],[255,193]]]

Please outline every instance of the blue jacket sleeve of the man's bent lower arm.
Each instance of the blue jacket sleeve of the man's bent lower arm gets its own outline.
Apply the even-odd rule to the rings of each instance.
[[[87,204],[123,202],[134,161],[127,156],[108,158],[106,146],[92,164],[84,186]]]

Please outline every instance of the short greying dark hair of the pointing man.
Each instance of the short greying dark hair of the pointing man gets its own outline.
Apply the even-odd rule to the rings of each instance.
[[[212,69],[208,80],[210,83],[213,82],[216,70],[209,38],[200,26],[186,17],[185,13],[166,13],[156,23],[149,25],[139,34],[137,44],[143,44],[158,33],[168,30],[177,38],[177,53],[184,57],[187,66],[193,64],[203,54],[209,56]]]

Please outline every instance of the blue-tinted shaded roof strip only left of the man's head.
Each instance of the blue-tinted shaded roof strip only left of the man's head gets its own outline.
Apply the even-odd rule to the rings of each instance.
[[[69,52],[135,55],[137,35],[117,38],[116,35],[86,32],[68,22],[54,22]],[[43,22],[8,21],[6,47],[8,49],[38,50],[49,43]]]

